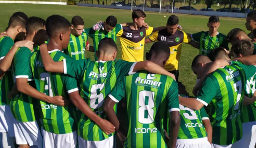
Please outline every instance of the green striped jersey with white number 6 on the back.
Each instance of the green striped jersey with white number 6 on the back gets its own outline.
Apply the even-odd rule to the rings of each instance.
[[[78,79],[80,95],[99,117],[105,118],[103,103],[119,78],[133,74],[135,63],[127,61],[63,60],[65,74]],[[115,107],[116,109],[116,107]],[[102,141],[105,134],[91,119],[78,111],[78,135],[88,141]]]

